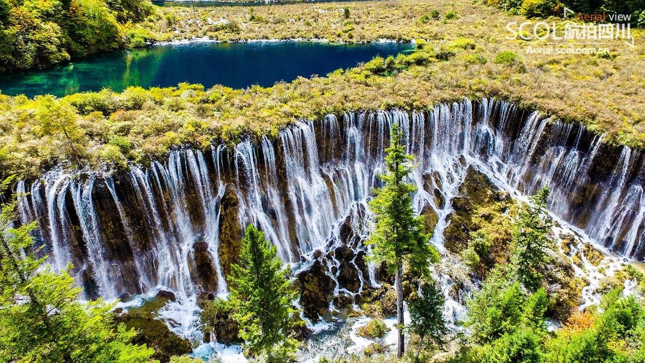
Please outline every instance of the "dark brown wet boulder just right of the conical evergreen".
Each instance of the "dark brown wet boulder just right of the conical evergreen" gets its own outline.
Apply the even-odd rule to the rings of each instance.
[[[303,307],[304,316],[312,321],[318,321],[320,316],[328,313],[329,303],[333,297],[335,283],[326,271],[326,265],[320,260],[315,260],[311,267],[297,276],[300,304]]]

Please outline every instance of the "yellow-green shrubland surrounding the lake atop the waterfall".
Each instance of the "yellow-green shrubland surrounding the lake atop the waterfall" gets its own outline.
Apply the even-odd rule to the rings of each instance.
[[[34,177],[57,165],[99,169],[106,162],[124,169],[128,161],[146,163],[172,147],[204,148],[248,134],[275,135],[299,118],[348,110],[424,110],[483,97],[583,123],[614,145],[645,147],[642,30],[631,29],[635,47],[610,39],[603,42],[608,53],[535,54],[526,48],[546,47],[551,41],[506,39],[507,23],[527,20],[512,12],[464,0],[377,3],[156,8],[137,25],[156,41],[204,36],[393,39],[415,41],[415,51],[266,88],[180,84],[64,98],[0,94],[0,170]],[[559,17],[545,21],[558,30],[570,22]],[[575,41],[556,42],[576,46]]]

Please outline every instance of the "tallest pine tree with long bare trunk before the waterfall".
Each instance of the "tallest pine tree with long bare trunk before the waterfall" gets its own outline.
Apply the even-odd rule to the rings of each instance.
[[[401,138],[399,125],[394,123],[390,147],[385,150],[387,171],[380,176],[384,185],[375,189],[374,199],[370,201],[375,228],[368,240],[368,244],[373,246],[373,260],[385,261],[388,268],[395,271],[398,357],[402,357],[404,353],[403,263],[406,262],[418,273],[425,274],[429,271],[429,263],[439,260],[437,251],[428,244],[430,236],[422,233],[423,217],[415,216],[412,209],[412,193],[417,187],[407,182],[406,178],[413,169],[413,156],[405,153]]]

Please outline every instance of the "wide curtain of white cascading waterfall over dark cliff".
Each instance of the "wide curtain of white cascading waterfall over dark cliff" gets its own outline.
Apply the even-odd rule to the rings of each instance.
[[[17,183],[30,192],[19,203],[21,220],[40,223],[37,240],[49,262],[72,263],[88,298],[158,289],[192,301],[224,294],[247,223],[266,233],[284,262],[301,263],[296,273],[328,258],[323,271],[333,292],[353,296],[379,285],[357,251],[368,236],[366,203],[379,185],[393,122],[419,163],[413,205],[436,214],[432,243],[440,250],[450,202],[475,167],[523,194],[549,182],[548,207],[562,221],[617,253],[645,256],[642,153],[493,99],[298,121],[276,140],[173,150],[115,176],[48,172]],[[462,309],[446,296],[458,318]]]

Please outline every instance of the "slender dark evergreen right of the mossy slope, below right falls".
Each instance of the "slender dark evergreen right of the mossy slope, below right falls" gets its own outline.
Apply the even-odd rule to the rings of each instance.
[[[530,203],[522,208],[519,218],[513,226],[515,248],[511,262],[515,266],[519,281],[529,291],[536,291],[542,282],[542,271],[550,262],[548,249],[553,249],[555,242],[551,236],[553,223],[546,213],[548,187],[543,187]]]

